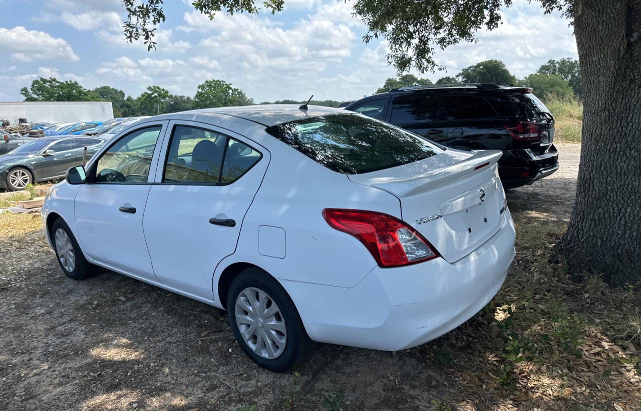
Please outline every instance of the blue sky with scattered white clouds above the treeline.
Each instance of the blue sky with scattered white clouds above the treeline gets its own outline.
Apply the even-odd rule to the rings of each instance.
[[[577,58],[572,28],[559,14],[544,15],[527,0],[501,13],[499,28],[479,31],[474,44],[437,51],[446,70],[421,77],[455,76],[492,58],[524,77],[549,59]],[[312,94],[346,101],[374,93],[396,74],[385,40],[363,43],[367,30],[349,0],[285,0],[276,15],[221,14],[213,21],[189,0],[165,0],[165,15],[150,52],[124,39],[122,0],[0,0],[0,101],[22,101],[20,89],[38,77],[109,85],[133,97],[149,85],[194,95],[205,80],[220,79],[256,102]]]

